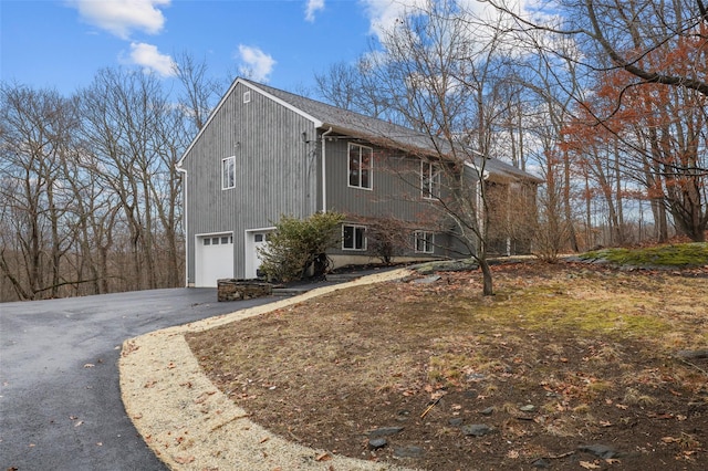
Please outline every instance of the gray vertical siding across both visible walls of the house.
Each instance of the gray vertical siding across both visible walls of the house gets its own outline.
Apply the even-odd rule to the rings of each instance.
[[[250,103],[243,92],[250,90]],[[244,275],[246,231],[273,226],[282,214],[322,209],[322,133],[289,106],[237,82],[183,159],[187,170],[188,282],[195,282],[195,242],[201,233],[233,233],[235,276]],[[304,136],[303,136],[304,133]],[[326,146],[326,209],[357,218],[391,218],[425,229],[439,218],[420,195],[420,160],[374,150],[373,188],[348,186],[345,136]],[[236,158],[236,188],[221,189],[221,160]],[[440,243],[442,234],[436,234]],[[413,234],[410,234],[413,247]],[[412,248],[410,248],[412,249]],[[436,249],[437,255],[449,255]]]

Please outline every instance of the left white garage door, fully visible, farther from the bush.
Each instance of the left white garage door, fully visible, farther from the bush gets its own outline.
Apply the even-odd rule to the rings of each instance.
[[[197,237],[197,287],[216,286],[217,280],[233,278],[233,236],[230,233]]]

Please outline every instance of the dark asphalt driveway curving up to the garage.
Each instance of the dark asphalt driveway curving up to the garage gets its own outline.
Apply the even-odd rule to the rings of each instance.
[[[273,300],[175,289],[0,304],[0,469],[167,469],[123,408],[123,341]]]

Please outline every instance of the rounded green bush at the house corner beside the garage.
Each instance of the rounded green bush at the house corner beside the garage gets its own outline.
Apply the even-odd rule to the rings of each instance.
[[[339,212],[316,212],[306,219],[282,216],[268,244],[259,249],[260,270],[269,280],[301,280],[312,269],[323,275],[329,266],[326,250],[340,241]]]

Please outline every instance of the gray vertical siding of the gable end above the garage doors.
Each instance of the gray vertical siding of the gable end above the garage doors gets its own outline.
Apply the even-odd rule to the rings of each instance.
[[[316,210],[316,144],[311,121],[239,84],[184,159],[188,172],[189,281],[195,237],[233,232],[235,275],[243,276],[244,231],[272,226],[281,214]],[[221,159],[236,157],[236,188],[221,189]]]

